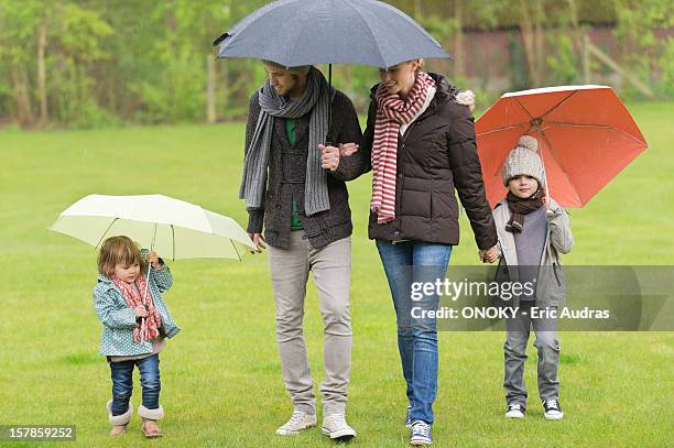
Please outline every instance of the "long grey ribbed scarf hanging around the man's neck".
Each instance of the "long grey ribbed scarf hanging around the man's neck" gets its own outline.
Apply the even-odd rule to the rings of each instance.
[[[250,146],[246,149],[243,179],[239,189],[239,199],[246,199],[247,207],[260,208],[262,206],[274,118],[295,119],[311,111],[304,211],[307,216],[312,216],[330,208],[327,174],[320,166],[320,151],[318,151],[318,144],[325,143],[328,131],[328,107],[334,96],[331,87],[329,87],[329,94],[328,96],[328,84],[325,77],[315,67],[309,69],[306,90],[296,101],[289,102],[287,99],[276,94],[269,79],[260,89],[259,102],[262,110]]]

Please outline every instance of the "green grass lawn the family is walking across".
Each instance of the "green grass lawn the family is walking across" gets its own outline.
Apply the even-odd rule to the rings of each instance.
[[[674,264],[673,103],[630,107],[651,147],[581,210],[567,264]],[[242,124],[102,131],[0,131],[0,424],[77,425],[77,445],[144,445],[134,414],[123,440],[110,440],[105,403],[110,373],[97,354],[91,305],[96,252],[46,230],[88,194],[161,193],[229,215],[237,199]],[[352,445],[406,446],[406,406],[395,320],[377,251],[367,239],[370,176],[351,183],[354,368],[348,417]],[[453,264],[476,264],[461,217]],[[165,294],[183,331],[162,353],[165,437],[187,446],[330,446],[318,428],[281,439],[291,414],[274,336],[267,255],[171,263]],[[323,379],[322,324],[313,285],[305,335],[314,380]],[[499,332],[439,335],[437,446],[653,446],[672,442],[674,334],[566,332],[562,343],[562,422],[546,422],[529,348],[528,416],[503,418]],[[532,338],[533,339],[533,338]],[[140,386],[132,398],[140,403]],[[20,446],[21,444],[11,444]],[[670,445],[671,446],[671,445]]]

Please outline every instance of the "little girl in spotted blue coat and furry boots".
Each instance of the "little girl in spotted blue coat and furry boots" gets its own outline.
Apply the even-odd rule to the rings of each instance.
[[[146,256],[152,265],[148,282]],[[138,413],[145,437],[161,437],[156,420],[164,416],[159,404],[161,390],[159,352],[165,338],[181,330],[168,314],[161,293],[173,283],[171,271],[155,252],[141,251],[128,237],[108,238],[98,255],[98,283],[94,305],[104,324],[100,353],[107,357],[112,378],[112,400],[107,408],[111,436],[124,434],[133,413],[133,367],[138,365],[143,389],[143,404]],[[149,285],[148,285],[149,283]],[[142,296],[148,287],[145,304]]]

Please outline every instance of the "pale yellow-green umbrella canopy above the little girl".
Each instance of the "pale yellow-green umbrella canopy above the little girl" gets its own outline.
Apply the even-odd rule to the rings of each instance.
[[[240,260],[257,250],[233,219],[162,195],[89,195],[63,211],[50,230],[94,247],[124,234],[173,260]]]

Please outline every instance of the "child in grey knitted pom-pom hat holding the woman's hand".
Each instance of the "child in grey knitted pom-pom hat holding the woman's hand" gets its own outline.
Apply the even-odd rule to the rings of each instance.
[[[554,313],[565,296],[559,253],[570,251],[574,238],[568,214],[545,193],[544,167],[537,150],[537,140],[523,135],[503,164],[502,176],[508,195],[493,209],[499,251],[491,256],[488,254],[487,261],[493,263],[500,258],[500,264],[506,266],[500,265],[499,272],[507,272],[511,282],[535,282],[532,283],[535,287],[524,289],[530,294],[513,298],[511,306],[519,307],[519,310],[506,324],[506,417],[522,418],[526,409],[523,373],[529,332],[533,326],[536,334],[534,347],[539,351],[539,394],[544,415],[546,419],[561,419],[564,413],[559,405],[559,343]]]

